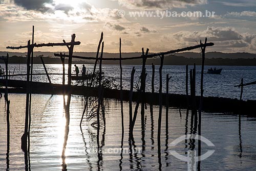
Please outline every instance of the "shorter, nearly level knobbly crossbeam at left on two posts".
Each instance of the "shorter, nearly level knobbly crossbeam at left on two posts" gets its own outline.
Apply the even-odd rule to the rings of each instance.
[[[6,48],[10,48],[12,50],[18,50],[20,48],[28,48],[28,47],[44,47],[44,46],[68,46],[68,45],[79,45],[81,44],[80,41],[75,41],[75,42],[68,42],[68,43],[41,43],[41,44],[31,44],[27,46],[18,46],[18,47],[12,47],[12,46],[7,46]]]

